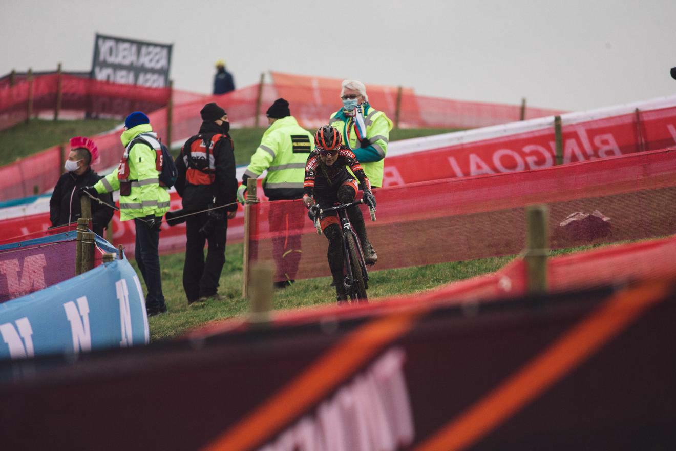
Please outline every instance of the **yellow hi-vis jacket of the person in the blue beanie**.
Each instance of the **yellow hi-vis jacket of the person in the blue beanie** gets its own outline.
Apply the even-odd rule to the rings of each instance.
[[[126,147],[141,133],[151,133],[150,124],[139,124],[122,133],[122,145]],[[156,135],[154,133],[151,136]],[[149,214],[163,216],[169,210],[169,193],[160,186],[160,172],[155,166],[155,153],[144,143],[136,143],[128,150],[129,195],[120,195],[120,220],[145,218]],[[119,168],[118,168],[119,169]],[[101,179],[94,188],[99,193],[110,193],[120,189],[118,169]]]

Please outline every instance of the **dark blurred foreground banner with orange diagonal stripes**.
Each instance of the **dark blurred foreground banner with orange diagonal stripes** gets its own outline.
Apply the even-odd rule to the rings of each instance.
[[[5,362],[0,374],[17,379],[0,384],[0,440],[7,449],[673,449],[675,302],[658,282],[418,303],[78,362]]]

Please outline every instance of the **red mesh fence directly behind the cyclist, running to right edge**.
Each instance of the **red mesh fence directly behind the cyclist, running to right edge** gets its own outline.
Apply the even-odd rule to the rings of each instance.
[[[676,153],[636,153],[375,193],[378,221],[369,222],[363,211],[379,255],[376,269],[517,254],[525,246],[524,207],[535,203],[550,206],[552,248],[656,237],[676,232]],[[316,235],[301,201],[262,202],[252,210],[251,261],[276,262],[276,280],[329,275],[327,239]],[[294,253],[300,255],[297,269],[288,258]]]

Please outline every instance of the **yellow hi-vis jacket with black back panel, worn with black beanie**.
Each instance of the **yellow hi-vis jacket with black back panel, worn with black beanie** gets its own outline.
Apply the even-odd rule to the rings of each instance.
[[[268,170],[263,189],[270,200],[301,199],[312,141],[312,134],[299,126],[293,116],[274,121],[251,156],[244,179],[258,179],[264,170]]]

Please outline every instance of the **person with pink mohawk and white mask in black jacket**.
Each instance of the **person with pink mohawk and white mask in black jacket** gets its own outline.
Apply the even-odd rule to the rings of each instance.
[[[102,179],[91,168],[91,164],[99,157],[95,143],[91,139],[74,137],[70,140],[70,145],[72,149],[64,164],[66,173],[59,178],[49,199],[49,220],[53,227],[76,223],[81,216],[78,189],[93,186]],[[112,195],[105,193],[97,197],[106,204],[113,205]],[[92,230],[99,237],[103,237],[103,229],[107,227],[113,213],[112,208],[91,201]]]

